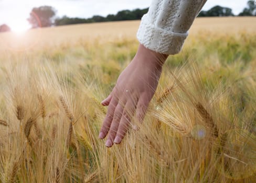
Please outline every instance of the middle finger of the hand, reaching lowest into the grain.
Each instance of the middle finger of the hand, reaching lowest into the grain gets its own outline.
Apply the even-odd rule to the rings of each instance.
[[[120,119],[123,114],[123,108],[124,106],[121,105],[120,103],[115,108],[114,117],[109,130],[108,140],[106,140],[106,144],[105,144],[107,147],[111,147],[114,144],[115,135],[116,135],[116,132],[118,131]]]

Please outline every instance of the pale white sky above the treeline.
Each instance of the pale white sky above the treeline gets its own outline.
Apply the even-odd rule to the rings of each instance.
[[[57,10],[57,16],[89,18],[106,16],[119,10],[149,7],[152,0],[0,0],[0,25],[7,24],[12,30],[29,28],[27,18],[33,7],[49,5]],[[246,7],[247,0],[208,0],[203,10],[215,5],[230,7],[235,15]]]

